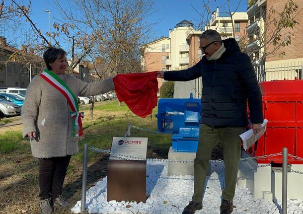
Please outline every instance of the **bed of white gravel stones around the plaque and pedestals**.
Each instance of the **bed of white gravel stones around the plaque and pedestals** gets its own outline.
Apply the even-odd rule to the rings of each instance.
[[[221,193],[224,187],[224,163],[212,163],[212,174],[207,177],[203,209],[196,214],[220,214]],[[94,214],[181,214],[193,194],[193,176],[167,176],[167,163],[147,162],[146,203],[107,202],[107,177],[86,191],[86,208]],[[232,214],[279,214],[282,202],[277,204],[263,199],[253,199],[247,188],[236,186]],[[81,201],[72,211],[80,213]],[[302,200],[288,201],[288,214],[303,214]]]

